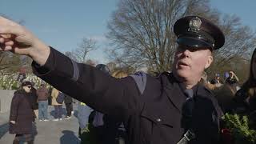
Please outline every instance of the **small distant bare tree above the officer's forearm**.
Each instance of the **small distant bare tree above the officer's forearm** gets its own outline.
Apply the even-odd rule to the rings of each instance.
[[[83,38],[81,44],[72,51],[71,55],[77,62],[85,63],[87,54],[96,49],[96,41],[94,41],[94,39]]]

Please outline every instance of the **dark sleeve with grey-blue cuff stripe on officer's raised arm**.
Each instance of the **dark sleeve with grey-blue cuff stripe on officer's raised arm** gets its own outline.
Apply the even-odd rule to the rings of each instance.
[[[138,106],[133,78],[112,78],[92,66],[70,60],[53,48],[44,66],[32,63],[34,74],[103,114],[123,115]]]

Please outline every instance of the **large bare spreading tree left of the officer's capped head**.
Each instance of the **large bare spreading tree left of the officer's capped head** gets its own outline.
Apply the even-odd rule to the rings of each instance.
[[[207,4],[205,0],[122,0],[108,24],[107,38],[115,46],[110,58],[127,66],[170,70],[176,47],[174,22],[194,7],[207,11]]]

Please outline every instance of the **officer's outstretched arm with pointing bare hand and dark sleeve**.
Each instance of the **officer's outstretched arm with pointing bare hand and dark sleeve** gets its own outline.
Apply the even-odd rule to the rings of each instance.
[[[90,66],[72,63],[24,26],[1,16],[0,51],[29,56],[34,60],[35,74],[102,113],[124,114],[122,112],[133,110],[137,102],[133,100],[138,90],[132,78],[118,81]]]

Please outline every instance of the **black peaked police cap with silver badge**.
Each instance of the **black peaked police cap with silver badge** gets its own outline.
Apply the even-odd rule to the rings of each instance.
[[[179,45],[191,47],[209,47],[211,50],[221,48],[225,43],[222,30],[212,22],[198,16],[187,16],[174,23]]]

